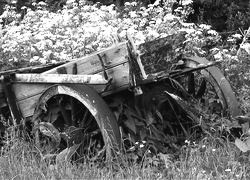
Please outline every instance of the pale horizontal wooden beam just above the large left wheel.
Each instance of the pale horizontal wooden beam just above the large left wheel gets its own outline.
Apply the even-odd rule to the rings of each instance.
[[[15,74],[12,82],[18,83],[76,83],[76,84],[107,84],[107,80],[99,74]]]

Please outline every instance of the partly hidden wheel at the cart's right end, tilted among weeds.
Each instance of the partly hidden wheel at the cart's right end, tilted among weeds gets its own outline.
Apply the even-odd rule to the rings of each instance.
[[[207,59],[200,57],[184,58],[183,62],[181,69],[195,68],[209,63]],[[240,114],[233,90],[217,67],[198,70],[177,80],[206,112],[233,117]]]

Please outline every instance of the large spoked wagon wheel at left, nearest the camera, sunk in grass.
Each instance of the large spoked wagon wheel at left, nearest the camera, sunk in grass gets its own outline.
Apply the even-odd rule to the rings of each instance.
[[[114,114],[86,85],[54,85],[47,89],[39,98],[33,123],[40,148],[50,153],[71,149],[73,160],[86,156],[108,159],[121,145]]]

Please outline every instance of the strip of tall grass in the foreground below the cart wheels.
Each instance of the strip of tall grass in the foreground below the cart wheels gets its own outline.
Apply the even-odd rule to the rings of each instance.
[[[0,154],[0,179],[250,179],[249,153],[227,139],[187,142],[178,153],[120,154],[112,162],[65,162],[44,158],[35,143],[13,131]]]

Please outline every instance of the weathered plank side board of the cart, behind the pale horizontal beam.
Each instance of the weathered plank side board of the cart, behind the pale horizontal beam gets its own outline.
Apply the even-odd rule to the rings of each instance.
[[[105,92],[103,92],[103,90],[105,89],[106,85],[91,85],[91,87],[95,89],[95,91],[105,96],[128,88],[128,57],[129,54],[127,50],[127,44],[125,42],[107,48],[103,51],[96,52],[92,55],[72,60],[69,63],[63,64],[49,71],[45,71],[42,74],[58,74],[58,69],[60,68],[64,68],[67,74],[73,74],[73,67],[76,66],[77,74],[79,75],[100,74],[104,76],[105,69],[105,73],[107,74],[108,78],[113,79],[110,86],[105,90]],[[17,103],[24,118],[33,115],[37,100],[39,99],[41,94],[52,85],[53,84],[44,83],[13,84]]]

